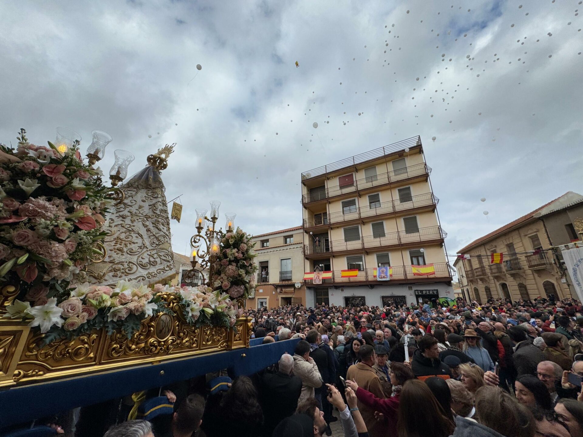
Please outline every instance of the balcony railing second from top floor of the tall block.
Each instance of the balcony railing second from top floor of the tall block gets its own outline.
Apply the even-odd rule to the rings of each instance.
[[[439,203],[439,199],[433,193],[418,194],[416,196],[401,197],[401,199],[389,200],[383,203],[373,203],[373,205],[361,206],[360,208],[339,211],[325,214],[325,217],[304,218],[304,228],[321,224],[339,224],[350,220],[360,220],[375,217],[382,217],[389,214],[406,212],[407,210],[434,206]]]

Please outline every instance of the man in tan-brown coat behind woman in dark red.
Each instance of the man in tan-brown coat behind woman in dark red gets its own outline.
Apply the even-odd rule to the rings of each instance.
[[[373,365],[375,364],[373,347],[368,344],[361,346],[359,350],[359,358],[359,363],[353,364],[348,368],[346,379],[356,382],[359,387],[368,390],[368,392],[373,393],[374,396],[385,399],[381,380],[373,369]],[[390,435],[391,431],[386,429],[387,427],[384,426],[383,422],[375,420],[374,408],[364,406],[360,400],[357,401],[356,406],[360,410],[364,423],[367,424],[368,434],[371,437],[385,437]]]

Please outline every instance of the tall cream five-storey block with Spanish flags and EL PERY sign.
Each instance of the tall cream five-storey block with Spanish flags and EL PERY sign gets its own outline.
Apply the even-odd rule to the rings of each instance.
[[[430,172],[416,136],[301,174],[308,306],[454,298]]]

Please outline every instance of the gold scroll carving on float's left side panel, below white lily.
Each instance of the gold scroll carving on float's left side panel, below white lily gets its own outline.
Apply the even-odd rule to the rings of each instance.
[[[44,334],[34,336],[26,346],[24,357],[41,362],[81,362],[95,358],[97,333],[83,334],[73,340],[57,340],[42,346]]]

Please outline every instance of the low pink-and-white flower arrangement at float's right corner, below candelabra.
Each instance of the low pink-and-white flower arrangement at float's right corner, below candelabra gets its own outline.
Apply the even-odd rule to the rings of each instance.
[[[243,313],[243,308],[238,308],[229,294],[220,290],[213,291],[205,286],[198,287],[163,287],[160,284],[154,286],[154,292],[173,292],[179,294],[180,308],[189,325],[202,326],[226,326],[232,327],[238,317]]]

